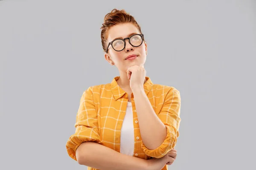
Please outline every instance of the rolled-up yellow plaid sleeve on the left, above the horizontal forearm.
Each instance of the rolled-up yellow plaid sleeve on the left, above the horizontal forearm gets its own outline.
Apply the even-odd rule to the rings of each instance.
[[[66,143],[68,155],[77,161],[76,149],[82,142],[92,141],[102,144],[99,137],[97,113],[91,88],[83,92],[76,114],[76,131]]]

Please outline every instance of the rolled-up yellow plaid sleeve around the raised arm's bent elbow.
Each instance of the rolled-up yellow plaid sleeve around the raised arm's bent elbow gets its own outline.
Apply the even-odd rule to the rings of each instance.
[[[164,99],[163,107],[158,114],[159,119],[166,126],[166,139],[154,150],[149,150],[141,141],[141,147],[146,155],[154,158],[162,158],[175,147],[177,138],[179,137],[179,126],[181,121],[180,104],[180,92],[175,88],[169,90]]]

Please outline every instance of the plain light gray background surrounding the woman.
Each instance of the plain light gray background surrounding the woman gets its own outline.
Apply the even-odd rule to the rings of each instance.
[[[180,91],[169,169],[254,169],[255,0],[1,0],[0,169],[86,169],[65,144],[82,92],[119,75],[100,38],[113,8],[142,27],[147,76]]]

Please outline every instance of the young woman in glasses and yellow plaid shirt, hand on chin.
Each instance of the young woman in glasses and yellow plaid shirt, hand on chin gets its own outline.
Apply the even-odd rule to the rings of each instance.
[[[134,17],[113,9],[102,25],[105,59],[119,76],[83,92],[67,153],[88,170],[167,170],[177,156],[180,92],[145,76],[147,43]]]

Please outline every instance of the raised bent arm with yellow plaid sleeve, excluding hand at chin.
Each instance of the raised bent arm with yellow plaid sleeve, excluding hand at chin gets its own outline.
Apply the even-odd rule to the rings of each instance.
[[[175,147],[180,125],[180,92],[170,88],[157,115],[143,89],[133,91],[140,126],[141,146],[146,155],[161,158]]]

